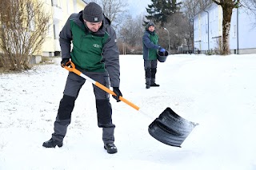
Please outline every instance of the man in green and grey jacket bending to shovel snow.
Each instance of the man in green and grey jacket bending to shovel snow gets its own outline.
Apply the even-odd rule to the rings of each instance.
[[[78,14],[71,14],[65,26],[59,34],[59,42],[62,49],[61,65],[69,66],[74,62],[76,68],[86,76],[98,81],[107,88],[113,87],[117,101],[122,96],[119,90],[120,67],[119,51],[116,44],[116,34],[110,26],[110,20],[102,13],[101,6],[90,2],[84,10]],[[71,43],[73,48],[71,50]],[[74,102],[86,79],[70,72],[66,86],[60,101],[54,133],[50,140],[42,146],[46,148],[62,147],[62,141],[66,136],[68,125],[71,121],[71,113]],[[110,95],[94,86],[98,127],[102,128],[102,140],[108,153],[118,152],[114,145],[114,128],[112,123],[112,108]]]

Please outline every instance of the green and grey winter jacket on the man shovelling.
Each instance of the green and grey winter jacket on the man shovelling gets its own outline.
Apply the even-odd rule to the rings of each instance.
[[[91,32],[84,24],[82,11],[71,14],[59,34],[62,59],[71,58],[78,69],[110,76],[110,85],[119,87],[120,66],[116,34],[107,18],[98,32]],[[71,44],[73,48],[71,49]]]

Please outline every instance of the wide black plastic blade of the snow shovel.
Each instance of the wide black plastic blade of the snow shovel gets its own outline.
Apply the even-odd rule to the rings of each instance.
[[[150,135],[164,144],[181,147],[181,144],[194,127],[198,125],[178,116],[170,108],[166,108],[158,118],[149,125]]]

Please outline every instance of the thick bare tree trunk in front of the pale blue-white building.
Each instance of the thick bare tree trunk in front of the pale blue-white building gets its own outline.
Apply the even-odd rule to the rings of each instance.
[[[232,10],[238,7],[239,0],[212,0],[214,3],[222,6],[222,54],[230,54],[230,23]]]

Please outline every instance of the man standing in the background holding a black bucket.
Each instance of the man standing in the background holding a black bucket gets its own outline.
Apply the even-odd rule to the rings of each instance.
[[[154,22],[148,22],[146,30],[142,37],[143,44],[143,59],[146,78],[146,89],[150,86],[158,87],[160,85],[155,83],[155,74],[157,73],[157,53],[158,50],[162,53],[166,51],[158,44],[158,34],[154,30]]]

